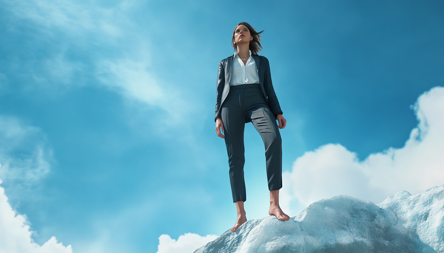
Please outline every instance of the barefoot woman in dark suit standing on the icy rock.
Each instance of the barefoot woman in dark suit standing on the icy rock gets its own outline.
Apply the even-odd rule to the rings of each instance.
[[[261,34],[249,23],[239,23],[233,31],[231,43],[234,55],[219,62],[216,97],[216,133],[225,139],[230,165],[230,183],[238,220],[231,231],[247,221],[244,181],[244,127],[252,122],[265,145],[270,209],[268,213],[279,220],[289,216],[279,207],[279,189],[282,188],[282,145],[279,128],[285,128],[281,107],[271,82],[268,59],[259,56]],[[279,125],[276,124],[276,120]],[[221,133],[224,132],[224,135]]]

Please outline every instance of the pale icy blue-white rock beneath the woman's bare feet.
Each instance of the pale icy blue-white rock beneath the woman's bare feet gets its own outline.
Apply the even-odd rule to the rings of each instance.
[[[226,231],[195,253],[444,253],[444,185],[384,202],[339,195],[289,221],[270,216]]]

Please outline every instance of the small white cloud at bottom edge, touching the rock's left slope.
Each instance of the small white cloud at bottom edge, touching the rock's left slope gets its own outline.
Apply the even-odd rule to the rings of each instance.
[[[159,246],[157,253],[193,253],[196,249],[202,247],[210,241],[214,241],[217,235],[200,236],[198,234],[187,233],[179,236],[176,240],[171,239],[167,234],[159,237]]]

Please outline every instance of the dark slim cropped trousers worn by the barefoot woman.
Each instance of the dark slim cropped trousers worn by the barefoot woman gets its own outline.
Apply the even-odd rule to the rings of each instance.
[[[268,189],[282,188],[282,140],[276,119],[268,108],[259,84],[231,86],[222,105],[222,122],[233,202],[246,201],[244,180],[244,128],[249,119],[265,145]]]

